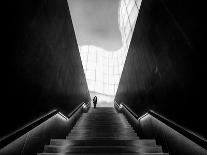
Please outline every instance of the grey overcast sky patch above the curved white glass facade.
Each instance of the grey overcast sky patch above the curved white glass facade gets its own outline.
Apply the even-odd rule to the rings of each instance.
[[[68,0],[79,46],[114,51],[122,46],[118,26],[119,0]]]

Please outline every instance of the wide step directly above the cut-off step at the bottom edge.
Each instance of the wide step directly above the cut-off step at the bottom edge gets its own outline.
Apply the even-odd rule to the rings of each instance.
[[[45,145],[44,152],[48,153],[162,153],[162,147],[149,146],[56,146]]]

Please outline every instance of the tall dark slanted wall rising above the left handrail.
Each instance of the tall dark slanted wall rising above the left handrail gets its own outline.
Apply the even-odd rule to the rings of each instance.
[[[0,137],[52,109],[68,114],[90,100],[67,0],[7,6]]]

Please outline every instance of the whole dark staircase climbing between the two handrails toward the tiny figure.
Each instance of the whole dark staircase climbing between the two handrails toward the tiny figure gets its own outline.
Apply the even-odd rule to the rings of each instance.
[[[38,155],[122,154],[168,155],[154,139],[139,139],[123,114],[114,108],[91,108],[66,139],[51,139]]]

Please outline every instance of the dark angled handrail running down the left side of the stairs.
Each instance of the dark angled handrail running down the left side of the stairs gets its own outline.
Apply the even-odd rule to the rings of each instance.
[[[83,106],[83,104],[85,104],[85,103],[81,103],[77,108],[75,108],[67,116],[67,118],[70,118],[78,109],[81,108],[81,106]],[[88,106],[88,104],[87,104],[87,106]],[[48,112],[47,114],[45,114],[44,116],[42,116],[42,117],[36,119],[35,121],[29,123],[28,125],[26,125],[26,126],[20,128],[20,129],[16,130],[16,131],[14,131],[13,133],[9,134],[8,136],[3,137],[0,140],[0,149],[3,148],[4,146],[8,145],[9,143],[14,141],[15,139],[21,137],[25,133],[29,132],[30,130],[34,129],[35,127],[37,127],[38,125],[40,125],[41,123],[45,122],[46,120],[48,120],[49,118],[53,117],[54,115],[56,115],[59,112],[60,111],[57,110],[57,109],[52,110],[52,111]]]

